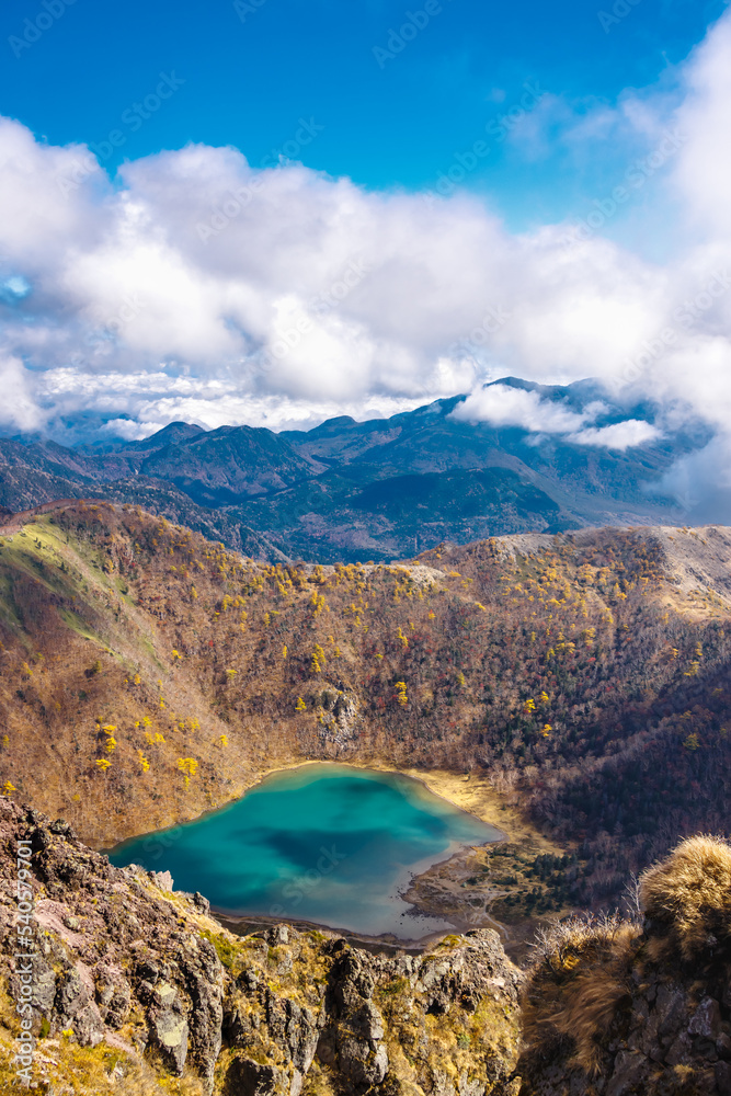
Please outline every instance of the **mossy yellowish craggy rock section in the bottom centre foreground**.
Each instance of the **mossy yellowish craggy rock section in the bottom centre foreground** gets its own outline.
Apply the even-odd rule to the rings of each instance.
[[[521,975],[494,933],[447,938],[423,956],[372,955],[320,935],[281,925],[248,937],[231,960],[225,1042],[242,1084],[297,1096],[324,1075],[356,1094],[511,1092]],[[266,1077],[254,1070],[262,1062]]]

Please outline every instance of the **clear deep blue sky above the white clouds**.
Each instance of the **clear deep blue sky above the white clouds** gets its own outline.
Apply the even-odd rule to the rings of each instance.
[[[0,111],[53,145],[105,150],[110,132],[121,130],[124,144],[102,157],[108,171],[199,141],[233,145],[254,165],[286,148],[367,187],[409,190],[433,189],[455,157],[471,162],[492,123],[489,152],[464,185],[521,229],[581,215],[627,158],[612,141],[576,156],[560,141],[506,136],[500,119],[526,85],[549,96],[545,106],[559,102],[576,117],[616,104],[628,89],[664,85],[672,94],[674,67],[724,8],[720,0],[430,3],[426,20],[421,0],[239,0],[238,10],[209,0],[47,0],[50,15],[42,0],[5,0]],[[37,32],[25,20],[38,15],[53,25],[26,47]],[[184,84],[133,129],[125,112],[155,94],[160,72]],[[296,139],[300,118],[315,124],[307,145]]]

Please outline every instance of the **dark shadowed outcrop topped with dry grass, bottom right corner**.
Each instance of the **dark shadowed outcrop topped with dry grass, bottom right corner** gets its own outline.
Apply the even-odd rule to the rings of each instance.
[[[574,923],[545,941],[523,1096],[731,1096],[731,845],[683,842],[641,899],[641,923]]]

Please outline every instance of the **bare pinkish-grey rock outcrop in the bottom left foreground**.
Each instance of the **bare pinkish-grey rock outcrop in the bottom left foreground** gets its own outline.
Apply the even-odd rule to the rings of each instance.
[[[225,977],[194,900],[165,897],[142,869],[117,870],[85,848],[66,823],[0,800],[0,946],[11,998],[21,1000],[19,840],[32,849],[36,1034],[67,1031],[92,1048],[114,1035],[130,1055],[159,1059],[175,1075],[189,1068],[212,1091]]]

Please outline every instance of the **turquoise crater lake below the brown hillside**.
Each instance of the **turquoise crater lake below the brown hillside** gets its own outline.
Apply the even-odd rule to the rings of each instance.
[[[419,939],[452,926],[411,912],[400,898],[410,877],[502,836],[419,780],[317,764],[275,773],[194,822],[132,838],[110,860],[170,871],[175,890],[201,891],[221,914]]]

